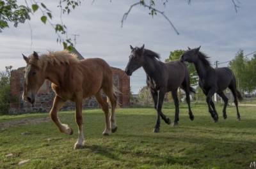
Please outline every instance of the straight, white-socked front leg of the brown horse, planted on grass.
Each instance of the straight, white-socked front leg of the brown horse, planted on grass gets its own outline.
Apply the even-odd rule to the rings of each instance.
[[[78,126],[78,139],[74,145],[74,149],[83,148],[84,134],[83,134],[83,117],[82,117],[82,98],[76,100],[76,123]]]

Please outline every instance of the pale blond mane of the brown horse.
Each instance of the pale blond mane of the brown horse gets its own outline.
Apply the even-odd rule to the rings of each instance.
[[[76,54],[72,54],[68,52],[68,50],[61,51],[49,51],[46,54],[42,54],[38,59],[32,57],[33,54],[29,55],[29,64],[34,64],[36,66],[42,67],[46,65],[45,63],[50,62],[51,64],[56,63],[58,65],[61,64],[70,64],[71,62],[79,62]]]

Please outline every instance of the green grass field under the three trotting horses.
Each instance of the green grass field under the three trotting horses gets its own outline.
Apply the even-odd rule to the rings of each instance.
[[[118,130],[102,136],[104,114],[100,109],[83,110],[84,148],[74,150],[77,127],[74,112],[60,112],[61,122],[74,129],[65,135],[48,114],[0,116],[0,168],[255,168],[256,114],[253,107],[216,106],[214,123],[205,104],[192,105],[190,121],[186,105],[180,105],[179,126],[161,121],[160,133],[153,108],[118,108]],[[164,105],[172,121],[174,106]],[[25,160],[25,161],[24,161]],[[23,161],[23,164],[19,164]]]

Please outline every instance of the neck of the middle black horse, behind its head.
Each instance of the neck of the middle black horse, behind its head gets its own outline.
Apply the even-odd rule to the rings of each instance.
[[[156,59],[152,59],[150,57],[145,57],[145,61],[143,63],[143,69],[148,77],[157,78],[157,73],[161,68],[161,62],[156,61]]]

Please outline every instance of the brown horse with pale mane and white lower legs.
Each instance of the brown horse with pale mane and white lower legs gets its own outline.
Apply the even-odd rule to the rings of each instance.
[[[79,136],[74,149],[83,147],[82,101],[84,98],[95,96],[101,105],[106,117],[106,128],[102,134],[109,135],[110,130],[113,133],[116,131],[115,87],[113,86],[111,68],[106,61],[99,58],[79,61],[77,55],[71,54],[67,50],[49,52],[40,56],[34,52],[29,57],[23,55],[23,58],[27,63],[24,70],[23,99],[29,103],[34,103],[36,92],[44,80],[50,80],[52,89],[56,94],[50,116],[60,132],[67,135],[72,135],[73,130],[67,124],[60,122],[57,112],[67,100],[76,103],[76,122]],[[101,91],[104,91],[111,101],[110,117],[108,103],[102,98]]]

